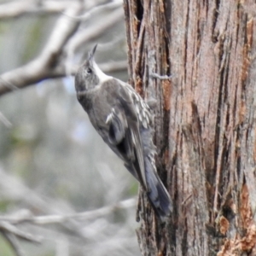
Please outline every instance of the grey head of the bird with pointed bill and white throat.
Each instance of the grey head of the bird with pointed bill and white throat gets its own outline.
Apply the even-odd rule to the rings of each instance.
[[[83,94],[87,90],[93,89],[96,85],[101,83],[102,73],[94,60],[97,44],[88,53],[86,61],[79,67],[75,76],[75,88],[77,93]],[[106,76],[106,75],[105,75]]]

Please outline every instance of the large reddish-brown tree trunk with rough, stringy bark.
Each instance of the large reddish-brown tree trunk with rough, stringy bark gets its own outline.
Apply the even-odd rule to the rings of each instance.
[[[140,195],[143,255],[256,255],[255,3],[124,7],[130,82],[157,100],[158,172],[174,205],[160,224]]]

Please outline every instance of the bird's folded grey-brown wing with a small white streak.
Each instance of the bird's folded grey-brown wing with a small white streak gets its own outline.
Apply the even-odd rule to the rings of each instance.
[[[104,84],[103,86],[106,85]],[[133,175],[138,177],[144,189],[148,191],[137,109],[133,102],[131,92],[125,86],[120,85],[118,81],[116,81],[115,87],[116,90],[113,91],[113,94],[116,94],[116,96],[112,95],[112,97],[114,96],[116,102],[113,104],[111,113],[108,114],[106,120],[109,127],[109,146],[125,161],[125,166],[128,170],[130,169],[132,172],[136,172]],[[106,87],[105,89],[107,90]]]

